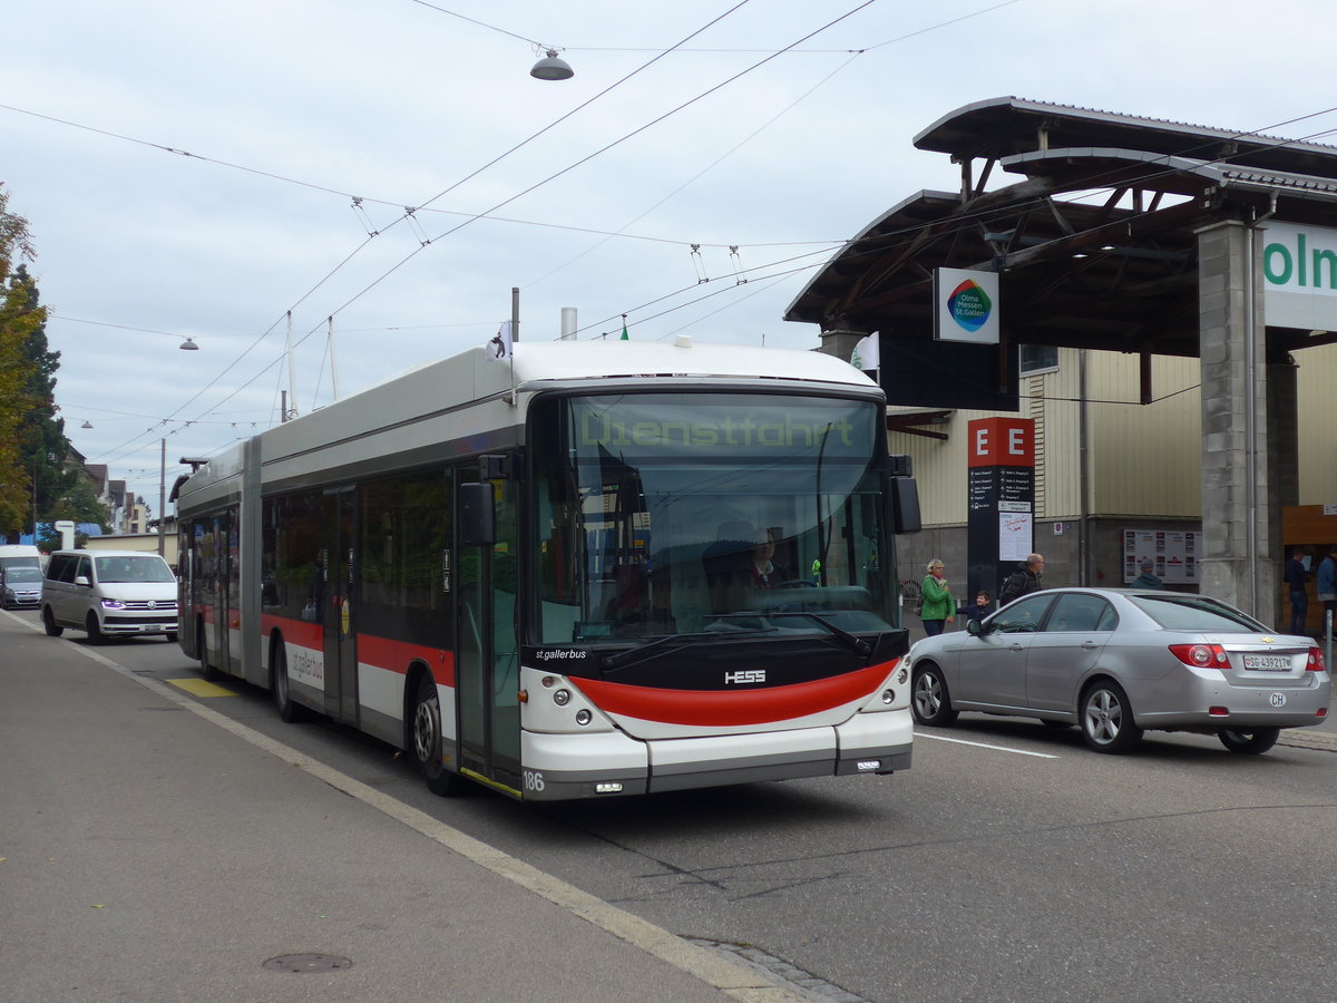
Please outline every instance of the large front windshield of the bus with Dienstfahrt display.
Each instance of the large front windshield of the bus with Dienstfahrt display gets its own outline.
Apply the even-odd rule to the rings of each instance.
[[[537,643],[892,629],[876,403],[556,397],[531,429]]]

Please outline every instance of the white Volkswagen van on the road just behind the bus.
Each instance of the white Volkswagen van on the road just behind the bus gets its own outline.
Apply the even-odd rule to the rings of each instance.
[[[111,637],[163,634],[176,641],[176,576],[156,554],[134,550],[57,550],[47,564],[41,623],[94,643]]]

